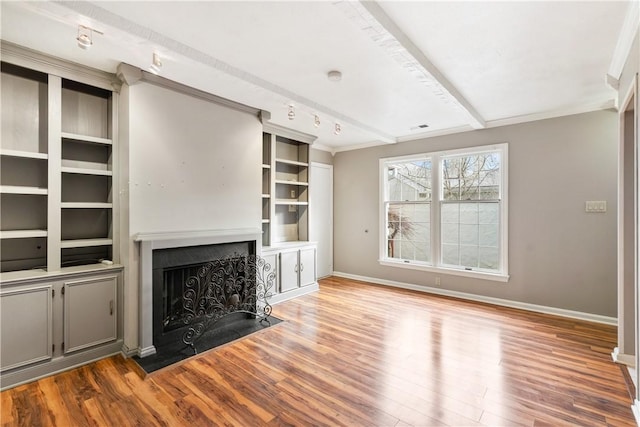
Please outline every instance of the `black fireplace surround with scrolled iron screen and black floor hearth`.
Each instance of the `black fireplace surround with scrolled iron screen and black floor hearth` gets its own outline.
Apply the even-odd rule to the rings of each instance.
[[[152,271],[156,354],[134,357],[146,372],[280,322],[255,241],[154,249]]]

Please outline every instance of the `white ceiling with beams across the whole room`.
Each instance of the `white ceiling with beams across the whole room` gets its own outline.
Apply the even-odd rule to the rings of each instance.
[[[163,77],[341,151],[613,106],[605,75],[629,5],[3,1],[1,37],[109,72],[147,69],[158,52]],[[78,24],[104,33],[89,50],[76,45]]]

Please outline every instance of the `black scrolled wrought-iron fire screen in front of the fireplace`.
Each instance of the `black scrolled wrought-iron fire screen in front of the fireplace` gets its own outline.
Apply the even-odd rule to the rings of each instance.
[[[187,326],[182,341],[197,353],[196,341],[216,322],[232,313],[269,322],[269,298],[275,272],[257,255],[230,255],[196,267],[186,278],[179,318]],[[175,311],[174,311],[175,316]],[[166,319],[167,322],[175,319]]]

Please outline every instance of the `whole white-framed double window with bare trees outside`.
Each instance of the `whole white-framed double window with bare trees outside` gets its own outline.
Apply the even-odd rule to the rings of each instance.
[[[506,144],[380,167],[381,263],[507,280]]]

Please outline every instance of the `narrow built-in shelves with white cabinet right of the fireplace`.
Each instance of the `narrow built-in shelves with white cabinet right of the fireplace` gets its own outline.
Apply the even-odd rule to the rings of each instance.
[[[309,241],[309,151],[314,137],[265,125],[262,140],[262,256],[276,271],[274,300],[317,289]]]

